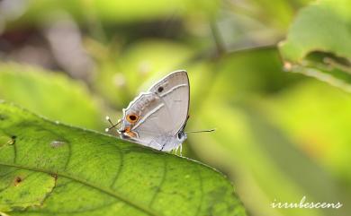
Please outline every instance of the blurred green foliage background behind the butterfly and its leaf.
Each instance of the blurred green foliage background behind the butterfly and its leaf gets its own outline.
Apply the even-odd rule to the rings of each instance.
[[[227,174],[253,216],[350,215],[350,59],[347,0],[0,1],[0,99],[103,132],[185,69],[186,130],[217,131],[184,155]],[[344,205],[270,206],[304,195]]]

